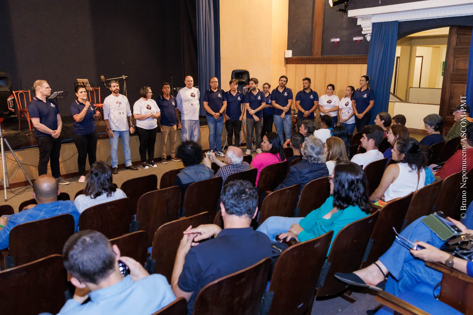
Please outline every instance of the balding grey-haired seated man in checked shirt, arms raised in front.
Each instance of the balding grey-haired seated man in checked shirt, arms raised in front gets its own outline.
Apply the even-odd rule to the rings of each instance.
[[[209,152],[209,157],[204,158],[204,164],[211,168],[211,162],[214,162],[220,166],[217,174],[214,177],[222,177],[222,189],[223,183],[227,180],[227,177],[238,172],[247,171],[250,169],[248,162],[243,162],[243,151],[240,148],[229,146],[227,155],[225,156],[225,162],[220,161],[214,152]]]

